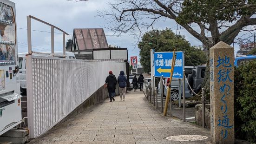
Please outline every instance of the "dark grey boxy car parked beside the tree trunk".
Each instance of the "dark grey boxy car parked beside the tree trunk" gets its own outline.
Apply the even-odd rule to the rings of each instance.
[[[188,83],[190,84],[192,90],[197,93],[201,90],[201,85],[203,83],[203,79],[205,76],[205,69],[206,65],[198,65],[196,66],[192,73],[188,75]],[[190,90],[190,93],[192,93],[189,86],[187,88]]]

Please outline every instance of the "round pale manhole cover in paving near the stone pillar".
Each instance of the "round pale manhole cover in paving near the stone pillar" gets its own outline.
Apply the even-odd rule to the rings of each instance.
[[[167,140],[173,140],[173,141],[196,141],[196,140],[203,140],[207,139],[206,136],[200,136],[200,135],[178,135],[178,136],[171,136],[166,137]]]

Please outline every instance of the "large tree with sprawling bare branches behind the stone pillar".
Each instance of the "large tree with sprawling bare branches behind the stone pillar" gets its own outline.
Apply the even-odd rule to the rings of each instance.
[[[174,20],[210,48],[219,41],[231,45],[239,34],[248,37],[256,31],[256,0],[116,0],[109,5],[111,9],[98,15],[107,20],[106,28],[119,34],[142,33],[161,20]],[[208,65],[203,81],[206,92],[209,85]]]

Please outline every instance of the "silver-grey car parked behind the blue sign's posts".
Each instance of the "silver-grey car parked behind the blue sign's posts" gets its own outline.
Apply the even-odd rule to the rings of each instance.
[[[185,75],[186,77],[192,73],[193,66],[185,66]],[[167,86],[167,79],[164,82],[164,85]],[[183,97],[183,83],[180,81],[180,90],[181,90],[181,97]],[[190,90],[187,88],[187,82],[185,83],[185,97],[190,98],[192,97]],[[158,94],[160,94],[160,82],[158,83]],[[164,87],[164,97],[167,95],[167,87]],[[178,100],[179,99],[179,81],[178,79],[171,80],[171,99]]]

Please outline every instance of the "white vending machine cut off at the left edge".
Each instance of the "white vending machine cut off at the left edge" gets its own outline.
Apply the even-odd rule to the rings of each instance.
[[[0,0],[0,135],[21,123],[15,3]]]

